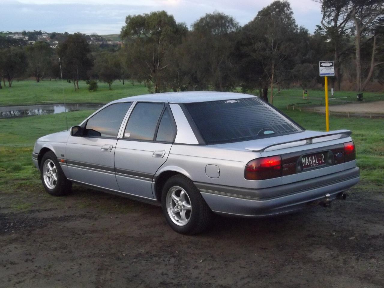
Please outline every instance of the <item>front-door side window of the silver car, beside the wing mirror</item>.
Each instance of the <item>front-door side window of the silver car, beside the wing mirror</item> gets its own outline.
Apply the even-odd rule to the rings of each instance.
[[[87,121],[84,136],[116,138],[121,122],[132,102],[115,103],[94,114]]]

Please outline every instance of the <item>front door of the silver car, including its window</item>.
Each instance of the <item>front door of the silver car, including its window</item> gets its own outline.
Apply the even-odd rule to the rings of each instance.
[[[114,103],[84,124],[82,136],[70,136],[66,162],[72,180],[119,190],[114,172],[114,153],[121,123],[132,102]]]

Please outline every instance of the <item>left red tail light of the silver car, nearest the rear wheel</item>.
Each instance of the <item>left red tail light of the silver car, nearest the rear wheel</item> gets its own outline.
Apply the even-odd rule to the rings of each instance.
[[[281,177],[281,157],[263,157],[248,162],[244,177],[247,180],[264,180]]]

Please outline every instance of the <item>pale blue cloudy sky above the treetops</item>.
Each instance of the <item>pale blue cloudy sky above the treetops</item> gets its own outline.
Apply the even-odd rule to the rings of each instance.
[[[321,20],[318,3],[289,0],[298,25],[311,33]],[[120,33],[127,15],[166,10],[190,26],[215,10],[244,25],[272,0],[0,0],[0,31],[43,30],[99,35]]]

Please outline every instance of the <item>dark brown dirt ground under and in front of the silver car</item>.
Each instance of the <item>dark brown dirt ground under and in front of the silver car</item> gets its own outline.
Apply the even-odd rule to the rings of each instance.
[[[384,287],[380,189],[363,182],[293,215],[216,217],[197,236],[171,230],[160,207],[78,186],[26,211],[3,195],[0,287]]]

